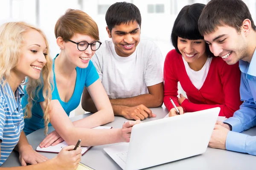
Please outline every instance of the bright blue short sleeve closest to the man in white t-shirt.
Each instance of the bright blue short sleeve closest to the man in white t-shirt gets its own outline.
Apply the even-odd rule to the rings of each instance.
[[[96,68],[93,65],[92,61],[89,61],[89,65],[87,67],[87,74],[86,74],[86,80],[85,80],[85,86],[88,87],[94,82],[96,82],[97,79],[99,79],[99,74],[96,71]]]

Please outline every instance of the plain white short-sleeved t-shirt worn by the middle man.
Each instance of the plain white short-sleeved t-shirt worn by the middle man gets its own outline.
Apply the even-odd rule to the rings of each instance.
[[[163,56],[151,40],[141,39],[128,57],[118,56],[112,40],[106,40],[91,60],[111,99],[148,94],[147,86],[163,82]]]

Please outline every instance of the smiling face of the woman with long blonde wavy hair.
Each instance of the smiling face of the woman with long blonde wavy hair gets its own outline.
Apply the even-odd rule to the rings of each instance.
[[[20,48],[20,61],[13,69],[17,77],[38,79],[41,69],[46,64],[47,46],[44,37],[36,30],[30,29],[23,34]]]

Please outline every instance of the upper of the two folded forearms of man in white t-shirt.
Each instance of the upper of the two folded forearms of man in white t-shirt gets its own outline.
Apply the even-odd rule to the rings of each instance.
[[[156,108],[163,104],[163,99],[159,99],[151,94],[142,94],[139,96],[129,98],[110,99],[113,105],[123,105],[128,107],[134,107],[137,105],[145,105],[147,108]]]

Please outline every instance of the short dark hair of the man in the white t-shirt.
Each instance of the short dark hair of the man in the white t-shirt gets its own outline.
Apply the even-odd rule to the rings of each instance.
[[[106,12],[105,20],[110,32],[114,26],[136,21],[141,26],[140,10],[132,3],[118,2],[112,4]]]

